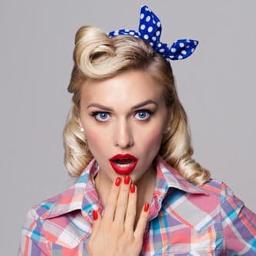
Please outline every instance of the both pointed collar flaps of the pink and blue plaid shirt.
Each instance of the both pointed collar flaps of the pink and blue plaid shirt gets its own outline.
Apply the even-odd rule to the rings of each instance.
[[[173,187],[190,194],[207,194],[202,188],[191,184],[184,177],[181,177],[177,170],[170,167],[160,156],[156,159],[157,181],[154,195],[165,197],[169,188]],[[46,200],[41,206],[49,211],[40,214],[42,219],[57,217],[71,211],[81,210],[83,217],[92,222],[92,212],[103,211],[103,206],[99,202],[96,192],[94,177],[98,173],[99,167],[93,159],[85,168],[79,179],[69,190],[52,200]]]

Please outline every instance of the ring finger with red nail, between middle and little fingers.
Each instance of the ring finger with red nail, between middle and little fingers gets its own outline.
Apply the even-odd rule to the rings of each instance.
[[[137,200],[136,186],[134,184],[131,184],[124,228],[126,231],[130,231],[132,233],[134,231],[134,222],[136,217],[136,200]]]

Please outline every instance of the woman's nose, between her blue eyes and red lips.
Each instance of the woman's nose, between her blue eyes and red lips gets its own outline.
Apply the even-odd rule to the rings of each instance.
[[[120,147],[121,149],[126,149],[133,146],[133,133],[129,123],[126,120],[120,120],[120,122],[115,123],[114,129],[114,145],[115,147]]]

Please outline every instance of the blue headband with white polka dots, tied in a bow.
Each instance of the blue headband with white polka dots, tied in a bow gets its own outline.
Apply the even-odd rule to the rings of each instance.
[[[192,39],[178,39],[173,45],[168,47],[166,43],[160,42],[162,25],[160,19],[157,18],[147,5],[143,5],[140,9],[140,25],[139,31],[130,29],[120,29],[109,32],[110,37],[116,35],[132,35],[140,39],[144,39],[150,43],[153,49],[167,60],[186,59],[197,48],[198,42]]]

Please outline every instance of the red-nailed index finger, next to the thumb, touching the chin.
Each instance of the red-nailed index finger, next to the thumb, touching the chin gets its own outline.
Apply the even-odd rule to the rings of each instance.
[[[122,183],[121,177],[117,177],[116,180],[113,182],[113,185],[109,191],[109,195],[106,199],[106,206],[103,214],[103,221],[113,221],[121,183]]]

